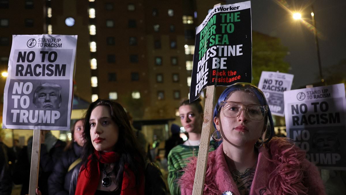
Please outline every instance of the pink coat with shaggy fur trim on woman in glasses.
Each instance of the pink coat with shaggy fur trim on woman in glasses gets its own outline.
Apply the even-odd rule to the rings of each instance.
[[[196,164],[197,158],[194,158],[179,180],[182,195],[192,194]],[[228,170],[221,144],[209,153],[203,194],[221,195],[224,191],[240,195]],[[326,194],[317,167],[305,159],[304,151],[286,138],[274,137],[259,149],[250,195],[268,194]]]

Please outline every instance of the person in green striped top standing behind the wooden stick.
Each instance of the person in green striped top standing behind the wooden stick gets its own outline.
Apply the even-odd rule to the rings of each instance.
[[[200,99],[190,103],[184,100],[179,107],[179,116],[182,126],[189,134],[189,138],[184,144],[177,145],[168,154],[168,186],[171,195],[180,194],[180,187],[177,179],[183,175],[183,168],[193,156],[198,156],[199,144],[203,124],[203,108]],[[216,148],[216,142],[210,142],[209,151]]]

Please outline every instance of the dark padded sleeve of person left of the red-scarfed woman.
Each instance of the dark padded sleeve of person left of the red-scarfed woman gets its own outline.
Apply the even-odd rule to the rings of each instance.
[[[48,178],[48,192],[49,195],[68,195],[69,193],[64,190],[65,175],[67,169],[64,166],[63,158],[60,158],[55,166],[52,174]]]

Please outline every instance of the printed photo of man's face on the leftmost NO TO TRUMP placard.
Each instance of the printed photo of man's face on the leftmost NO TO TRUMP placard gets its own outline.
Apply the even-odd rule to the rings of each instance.
[[[58,109],[61,101],[61,86],[58,84],[44,83],[35,90],[33,103],[36,108]]]

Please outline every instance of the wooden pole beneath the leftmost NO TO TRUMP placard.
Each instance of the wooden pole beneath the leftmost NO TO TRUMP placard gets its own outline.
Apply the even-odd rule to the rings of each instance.
[[[33,150],[31,150],[29,195],[36,195],[38,169],[40,166],[41,130],[34,129]]]

